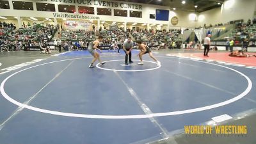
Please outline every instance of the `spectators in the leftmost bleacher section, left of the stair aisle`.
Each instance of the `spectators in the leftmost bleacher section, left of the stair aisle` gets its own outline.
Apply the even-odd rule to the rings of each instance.
[[[6,22],[3,22],[6,23]],[[7,28],[9,29],[9,28]],[[39,47],[47,45],[56,33],[56,27],[53,25],[36,24],[31,28],[20,28],[7,31],[6,28],[0,29],[0,47],[3,51],[26,51],[29,47]]]

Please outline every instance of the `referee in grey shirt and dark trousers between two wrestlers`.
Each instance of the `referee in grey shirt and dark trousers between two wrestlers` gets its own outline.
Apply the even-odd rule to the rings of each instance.
[[[125,65],[128,65],[128,55],[129,55],[129,63],[133,63],[132,61],[132,48],[133,48],[133,42],[131,40],[132,38],[129,37],[127,40],[125,40],[123,49],[125,52]]]

